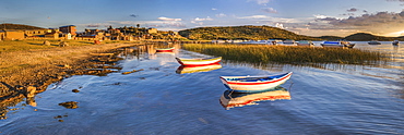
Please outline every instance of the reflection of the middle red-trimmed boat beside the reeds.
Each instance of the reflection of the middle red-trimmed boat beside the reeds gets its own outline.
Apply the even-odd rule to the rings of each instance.
[[[221,69],[222,64],[221,63],[213,63],[209,65],[200,65],[200,66],[185,66],[181,65],[177,69],[176,73],[177,74],[187,74],[187,73],[197,73],[197,72],[209,72],[213,70]]]

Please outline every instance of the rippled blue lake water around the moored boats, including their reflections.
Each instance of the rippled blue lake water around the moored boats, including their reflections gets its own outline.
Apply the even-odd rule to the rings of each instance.
[[[117,73],[71,76],[5,108],[0,134],[404,134],[404,47],[356,44],[356,49],[388,52],[394,61],[258,66],[223,60],[181,69],[175,57],[210,56],[181,49],[122,53]],[[219,81],[289,71],[294,74],[282,87],[260,94],[229,95]],[[79,108],[59,106],[68,101]]]

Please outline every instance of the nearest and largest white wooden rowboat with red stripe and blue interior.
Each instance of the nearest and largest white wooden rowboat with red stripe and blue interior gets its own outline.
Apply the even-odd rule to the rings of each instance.
[[[278,75],[261,76],[221,76],[226,88],[236,93],[257,93],[268,90],[284,84],[290,78],[293,72]]]

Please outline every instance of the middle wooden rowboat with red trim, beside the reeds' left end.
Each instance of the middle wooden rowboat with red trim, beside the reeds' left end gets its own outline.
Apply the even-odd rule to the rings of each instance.
[[[202,59],[183,59],[183,58],[176,58],[178,63],[181,65],[209,65],[221,62],[222,57],[216,58],[202,58]]]

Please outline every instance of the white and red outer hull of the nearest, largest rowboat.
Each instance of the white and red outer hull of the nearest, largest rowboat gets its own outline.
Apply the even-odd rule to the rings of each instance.
[[[273,79],[269,79],[269,81],[257,81],[257,82],[229,81],[233,78],[241,78],[246,76],[233,76],[233,77],[231,76],[221,76],[221,81],[225,85],[226,88],[231,89],[236,93],[258,93],[258,91],[273,89],[280,86],[281,84],[284,84],[286,81],[290,78],[293,72],[285,73],[282,75],[273,75],[271,77],[274,77],[274,76],[277,76],[277,77]],[[263,76],[258,76],[258,77],[263,77]]]

